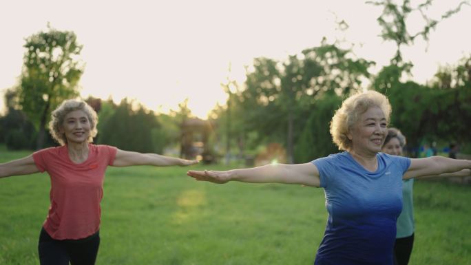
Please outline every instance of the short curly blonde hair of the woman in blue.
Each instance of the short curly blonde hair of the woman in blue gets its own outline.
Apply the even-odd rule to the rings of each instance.
[[[348,131],[370,107],[379,107],[389,123],[391,105],[388,98],[374,90],[354,94],[342,103],[331,120],[332,140],[339,150],[349,151],[352,148],[352,140],[348,139]]]

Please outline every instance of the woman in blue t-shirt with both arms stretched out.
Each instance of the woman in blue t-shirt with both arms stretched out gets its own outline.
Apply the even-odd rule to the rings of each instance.
[[[402,180],[471,168],[471,161],[441,156],[411,159],[381,152],[391,107],[375,91],[344,100],[331,121],[333,142],[343,150],[313,162],[229,171],[188,171],[200,181],[304,184],[324,188],[328,211],[316,265],[393,264]],[[300,244],[304,244],[301,243]]]

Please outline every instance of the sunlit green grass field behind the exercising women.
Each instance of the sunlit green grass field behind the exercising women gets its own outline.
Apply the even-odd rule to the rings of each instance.
[[[28,153],[2,150],[0,162]],[[108,169],[96,264],[313,264],[327,215],[322,189],[216,185],[187,169]],[[0,180],[0,264],[39,264],[49,189],[46,173]],[[415,182],[411,265],[471,264],[470,200],[469,186]]]

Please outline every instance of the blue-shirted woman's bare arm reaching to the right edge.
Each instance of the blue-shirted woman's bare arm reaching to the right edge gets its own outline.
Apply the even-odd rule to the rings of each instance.
[[[412,158],[410,160],[410,167],[403,178],[421,178],[427,176],[448,177],[453,176],[449,173],[462,171],[463,169],[471,169],[471,160],[458,160],[443,156]]]

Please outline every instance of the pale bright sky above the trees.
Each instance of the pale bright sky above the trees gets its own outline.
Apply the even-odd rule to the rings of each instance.
[[[412,1],[412,3],[423,1]],[[435,0],[437,17],[459,1]],[[189,98],[193,114],[205,118],[227,96],[225,81],[244,81],[244,65],[266,56],[286,59],[305,48],[346,39],[357,56],[387,65],[393,43],[379,38],[381,8],[357,0],[330,1],[10,1],[0,8],[0,107],[5,89],[17,84],[23,45],[31,34],[47,29],[74,31],[83,45],[81,96],[135,98],[149,109],[167,112]],[[336,30],[344,19],[350,28]],[[410,30],[419,28],[419,14]],[[413,80],[425,83],[439,65],[456,64],[471,54],[471,8],[443,21],[430,34],[427,46],[417,40],[404,49],[412,61]],[[428,49],[426,50],[426,48]]]

